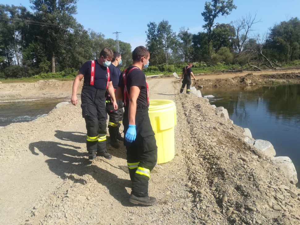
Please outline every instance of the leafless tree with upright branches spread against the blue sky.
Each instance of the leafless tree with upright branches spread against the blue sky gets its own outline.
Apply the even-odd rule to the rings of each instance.
[[[246,16],[242,16],[242,18],[234,22],[234,28],[237,33],[237,45],[239,53],[242,52],[246,40],[248,40],[251,37],[254,37],[254,29],[252,28],[253,24],[259,22],[261,22],[261,20],[256,20],[256,14],[252,16],[250,13]]]

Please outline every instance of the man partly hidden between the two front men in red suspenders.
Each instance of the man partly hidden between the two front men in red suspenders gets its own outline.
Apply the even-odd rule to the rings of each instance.
[[[121,63],[122,63],[121,54],[118,52],[114,52],[114,57],[111,61],[111,65],[109,66],[110,77],[113,82],[114,90],[116,90],[118,87],[121,70],[117,66],[121,65]],[[108,123],[109,143],[114,148],[119,148],[120,144],[118,143],[118,140],[123,141],[123,138],[120,134],[120,126],[124,114],[123,102],[121,100],[117,100],[118,109],[115,110],[113,104],[111,103],[111,99],[107,91],[105,94],[105,102],[106,102],[106,112],[109,115],[109,123]]]

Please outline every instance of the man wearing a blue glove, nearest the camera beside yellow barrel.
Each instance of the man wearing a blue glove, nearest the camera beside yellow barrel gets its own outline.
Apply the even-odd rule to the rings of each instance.
[[[124,145],[132,181],[129,201],[151,206],[155,197],[148,195],[150,172],[157,162],[157,146],[151,127],[148,106],[149,90],[142,69],[149,65],[149,51],[139,46],[132,52],[133,64],[121,73],[116,96],[124,103]]]

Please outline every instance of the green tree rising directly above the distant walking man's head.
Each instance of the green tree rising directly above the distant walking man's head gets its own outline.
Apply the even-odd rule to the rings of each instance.
[[[182,55],[184,56],[184,61],[185,62],[190,62],[191,61],[191,55],[193,52],[193,47],[192,47],[192,38],[193,35],[188,32],[189,29],[185,29],[184,27],[180,28],[178,32],[178,48],[181,51]]]

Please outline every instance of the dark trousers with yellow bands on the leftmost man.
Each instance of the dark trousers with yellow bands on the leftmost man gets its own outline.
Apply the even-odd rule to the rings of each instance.
[[[82,117],[87,128],[88,151],[106,151],[105,91],[85,85],[81,91]]]

